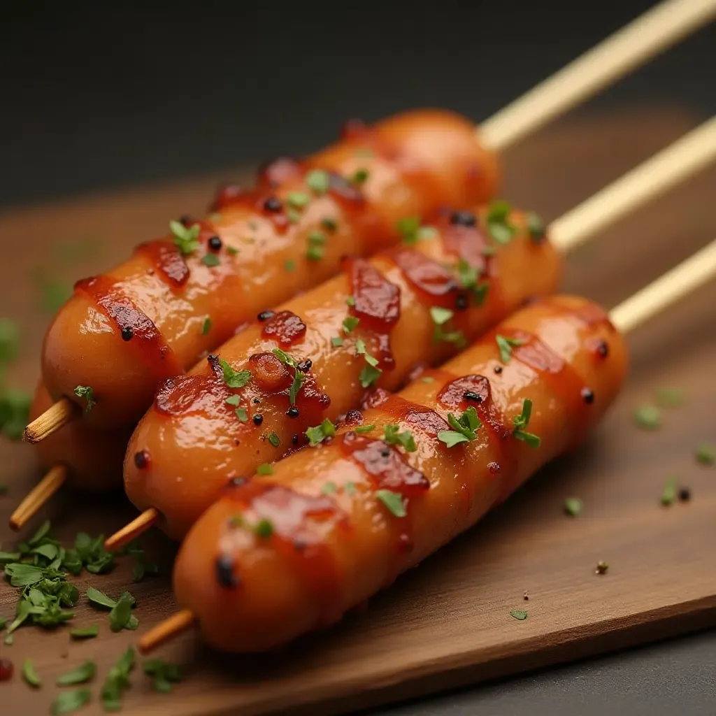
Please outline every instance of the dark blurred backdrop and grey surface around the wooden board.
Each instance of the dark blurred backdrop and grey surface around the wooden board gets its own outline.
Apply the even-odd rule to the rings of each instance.
[[[0,22],[0,208],[304,153],[347,117],[487,117],[648,0],[14,3]],[[716,111],[711,26],[579,112]],[[402,715],[716,714],[701,634],[405,705]],[[387,710],[386,710],[387,712]]]

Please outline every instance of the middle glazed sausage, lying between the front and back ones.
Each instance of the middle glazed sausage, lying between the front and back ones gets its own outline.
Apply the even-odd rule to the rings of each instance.
[[[367,387],[397,390],[417,362],[444,361],[526,297],[553,293],[561,258],[534,224],[503,202],[444,213],[410,227],[410,245],[345,258],[342,275],[260,314],[218,357],[160,387],[127,450],[130,500],[158,509],[180,539],[227,478],[303,447]],[[231,387],[223,367],[245,384]]]

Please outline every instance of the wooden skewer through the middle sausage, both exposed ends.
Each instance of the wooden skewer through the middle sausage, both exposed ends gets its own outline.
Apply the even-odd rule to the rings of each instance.
[[[716,117],[704,122],[671,146],[596,193],[549,227],[550,241],[569,253],[609,223],[668,190],[716,159]],[[143,512],[105,541],[112,551],[139,537],[158,518],[154,508]]]

